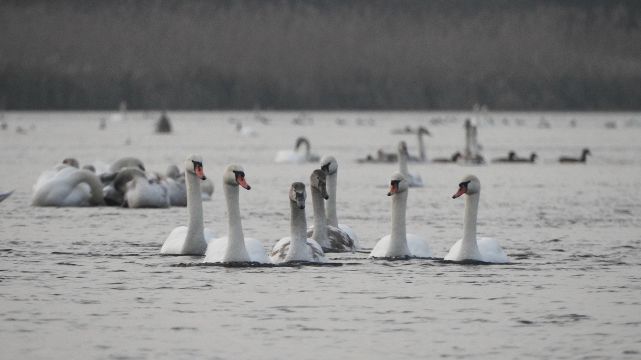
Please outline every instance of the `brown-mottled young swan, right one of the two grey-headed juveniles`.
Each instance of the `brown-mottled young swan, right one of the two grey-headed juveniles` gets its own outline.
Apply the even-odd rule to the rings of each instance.
[[[320,169],[313,170],[312,176],[310,176],[314,225],[312,229],[307,230],[307,237],[316,241],[324,252],[359,250],[358,243],[354,243],[344,231],[327,224],[323,200],[329,199],[326,179],[327,175]]]

